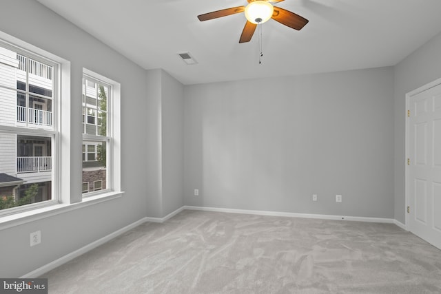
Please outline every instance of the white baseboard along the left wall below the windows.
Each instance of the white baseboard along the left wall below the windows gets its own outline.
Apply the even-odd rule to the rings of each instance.
[[[85,245],[81,247],[80,249],[73,251],[71,253],[68,253],[64,255],[63,257],[54,260],[53,262],[50,262],[49,264],[45,264],[44,266],[41,266],[39,269],[36,269],[34,271],[31,271],[30,273],[27,273],[23,275],[21,278],[28,279],[33,277],[39,277],[43,275],[44,273],[48,273],[48,271],[51,271],[52,269],[57,268],[58,266],[61,266],[62,264],[65,264],[66,262],[69,262],[70,260],[73,260],[74,258],[79,257],[80,255],[83,255],[84,253],[91,251],[92,249],[104,244],[105,242],[108,242],[112,240],[113,238],[118,237],[119,235],[130,231],[131,229],[138,227],[140,224],[143,224],[146,222],[147,218],[142,218],[141,220],[138,220],[132,224],[129,224],[126,227],[123,227],[122,229],[119,229],[118,231],[114,231],[113,233],[106,235],[105,237],[96,240],[95,242],[92,242],[88,245]]]

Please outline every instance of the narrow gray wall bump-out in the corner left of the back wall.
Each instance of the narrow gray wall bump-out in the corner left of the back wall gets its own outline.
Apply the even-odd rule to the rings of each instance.
[[[147,85],[147,216],[162,218],[183,206],[184,86],[163,70],[147,70]]]

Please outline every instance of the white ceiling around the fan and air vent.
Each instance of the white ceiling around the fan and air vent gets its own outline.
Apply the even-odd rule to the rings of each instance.
[[[146,70],[181,83],[333,72],[396,65],[441,31],[440,0],[285,0],[309,20],[300,31],[272,19],[239,44],[243,13],[209,21],[198,14],[246,0],[37,0]],[[178,53],[190,52],[197,65]]]

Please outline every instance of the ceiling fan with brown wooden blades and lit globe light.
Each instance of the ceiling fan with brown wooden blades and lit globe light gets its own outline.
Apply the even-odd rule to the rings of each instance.
[[[218,17],[227,17],[231,14],[245,12],[247,23],[240,35],[239,43],[249,42],[252,39],[256,27],[260,23],[265,23],[269,19],[274,19],[283,25],[287,25],[294,30],[301,30],[308,20],[300,15],[290,12],[283,8],[273,6],[270,2],[277,3],[284,0],[247,0],[247,6],[238,6],[217,10],[198,15],[200,21],[208,21],[209,19],[217,19]]]

